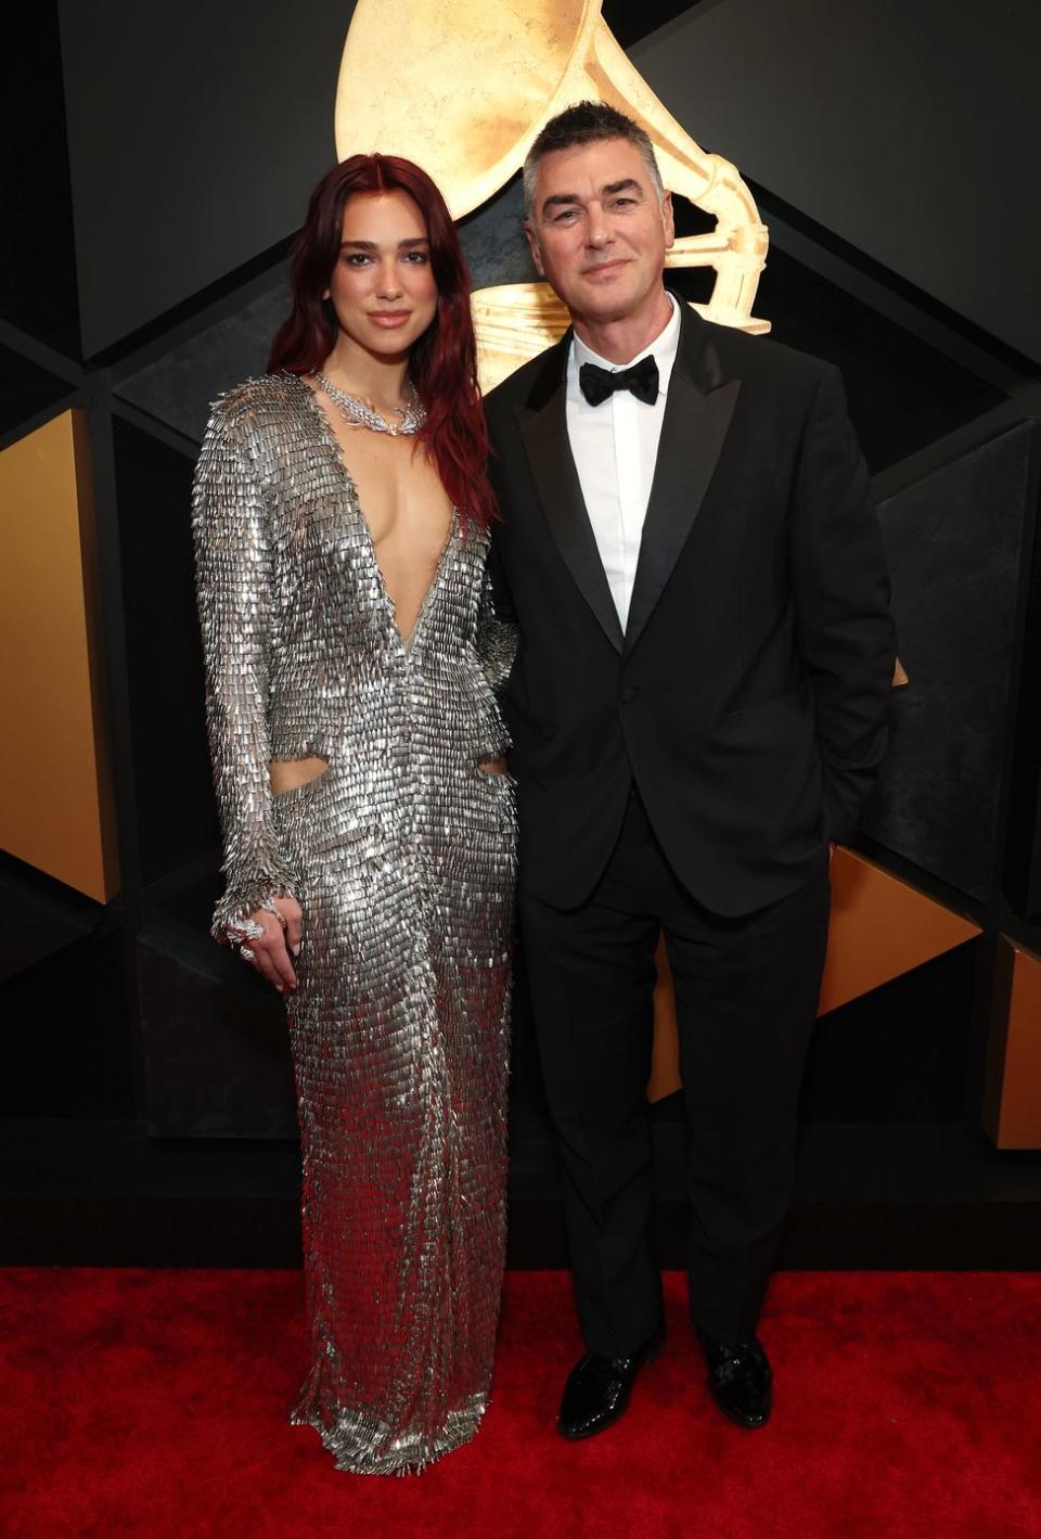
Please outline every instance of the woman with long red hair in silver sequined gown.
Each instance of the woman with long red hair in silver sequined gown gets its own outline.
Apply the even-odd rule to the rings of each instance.
[[[514,794],[484,576],[469,280],[418,166],[315,188],[269,372],[194,497],[224,833],[214,933],[288,1005],[312,1367],[344,1470],[418,1470],[487,1404],[503,1268]]]

